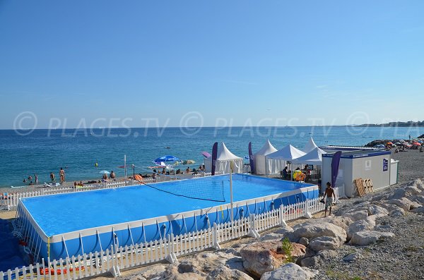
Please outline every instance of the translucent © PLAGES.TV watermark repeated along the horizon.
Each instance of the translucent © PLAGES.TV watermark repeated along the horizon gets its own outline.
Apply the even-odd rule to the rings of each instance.
[[[384,118],[385,123],[396,122],[394,119]],[[305,132],[299,123],[307,123],[310,128]],[[338,123],[344,123],[340,125]],[[374,125],[358,125],[370,123],[370,116],[363,111],[355,111],[346,118],[337,118],[329,121],[327,118],[214,118],[208,120],[208,133],[212,130],[213,138],[240,138],[240,137],[261,137],[261,138],[303,138],[307,135],[318,133],[328,137],[334,133],[334,128],[344,126],[346,133],[353,137],[365,135]],[[18,135],[30,135],[38,128],[38,118],[33,111],[23,111],[16,116],[13,121],[13,129]],[[78,120],[69,118],[49,118],[47,123],[47,136],[59,137],[109,137],[109,138],[139,138],[148,136],[162,137],[167,128],[177,129],[186,136],[194,136],[205,128],[204,115],[199,111],[189,111],[182,116],[175,118],[79,118]],[[394,129],[394,130],[393,130]],[[404,128],[400,131],[398,127],[380,126],[378,135],[374,130],[374,137],[383,138],[384,133],[390,130],[394,135],[416,135],[419,129],[416,126]]]

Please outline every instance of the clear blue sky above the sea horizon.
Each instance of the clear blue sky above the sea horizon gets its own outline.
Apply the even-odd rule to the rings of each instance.
[[[423,120],[423,11],[424,1],[0,0],[0,128],[25,111],[37,128]]]

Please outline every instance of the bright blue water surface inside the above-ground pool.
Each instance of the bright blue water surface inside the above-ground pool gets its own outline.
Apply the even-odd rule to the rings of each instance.
[[[232,178],[234,202],[310,186],[242,174],[235,174]],[[228,175],[155,185],[160,185],[160,188],[170,191],[184,185],[187,193],[192,193],[189,191],[190,188],[197,188],[201,185],[206,190],[208,185],[213,187],[213,182],[218,183],[216,188],[219,188],[223,182],[225,202],[194,200],[155,190],[146,185],[31,197],[24,198],[22,202],[45,234],[55,236],[71,231],[161,217],[230,203]],[[208,197],[208,194],[205,193],[204,197]],[[287,204],[288,202],[295,203],[295,200],[283,203]]]

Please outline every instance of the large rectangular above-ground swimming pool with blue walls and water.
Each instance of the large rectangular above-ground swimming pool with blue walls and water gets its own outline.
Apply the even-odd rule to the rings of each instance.
[[[204,193],[204,199],[219,195],[225,202],[167,193],[173,190]],[[317,185],[242,174],[232,175],[232,190],[235,220],[319,195]],[[21,198],[18,205],[35,257],[52,260],[105,250],[117,241],[131,245],[207,229],[230,221],[230,213],[229,175]]]

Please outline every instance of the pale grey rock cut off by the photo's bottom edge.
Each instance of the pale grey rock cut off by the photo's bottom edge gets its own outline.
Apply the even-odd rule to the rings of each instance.
[[[305,270],[298,264],[288,263],[273,272],[266,272],[261,280],[310,280],[317,274],[316,270]]]

